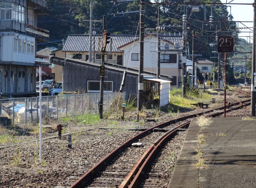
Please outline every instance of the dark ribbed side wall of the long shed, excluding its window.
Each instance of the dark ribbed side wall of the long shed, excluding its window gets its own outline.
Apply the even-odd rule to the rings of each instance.
[[[53,60],[54,64],[63,66],[63,91],[87,91],[87,81],[100,81],[100,66],[80,65],[65,62],[63,60]],[[121,70],[109,70],[105,67],[104,81],[113,81],[113,92],[119,91],[123,77]],[[137,93],[138,75],[127,73],[126,83],[123,91]]]

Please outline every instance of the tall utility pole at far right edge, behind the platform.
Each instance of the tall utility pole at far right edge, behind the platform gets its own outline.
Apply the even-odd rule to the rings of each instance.
[[[255,116],[255,89],[254,89],[254,76],[256,75],[255,71],[255,28],[256,28],[256,0],[253,4],[253,59],[252,59],[252,85],[251,85],[251,116]]]

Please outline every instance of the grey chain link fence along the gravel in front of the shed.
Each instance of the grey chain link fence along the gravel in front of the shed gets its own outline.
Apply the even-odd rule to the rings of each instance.
[[[127,93],[121,93],[122,99],[127,100]],[[103,112],[108,111],[119,92],[104,93]],[[39,97],[0,99],[2,102],[2,117],[8,122],[1,124],[26,124],[39,122]],[[86,112],[99,113],[100,93],[77,95],[57,95],[42,97],[42,119],[63,118],[80,115]]]

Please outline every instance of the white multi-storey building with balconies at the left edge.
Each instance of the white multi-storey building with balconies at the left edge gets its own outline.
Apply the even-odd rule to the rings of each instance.
[[[2,1],[0,7],[0,92],[22,96],[36,93],[36,67],[48,66],[36,55],[37,42],[48,41],[49,31],[37,27],[46,1]]]

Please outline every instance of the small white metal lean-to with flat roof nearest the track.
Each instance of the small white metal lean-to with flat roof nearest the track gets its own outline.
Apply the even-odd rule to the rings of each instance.
[[[159,84],[159,106],[162,107],[167,105],[170,98],[170,83],[171,81],[155,79],[155,78],[144,78],[145,81],[156,82]]]

